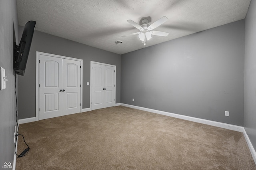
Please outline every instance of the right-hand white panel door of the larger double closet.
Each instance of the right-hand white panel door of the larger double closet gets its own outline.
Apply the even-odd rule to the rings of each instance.
[[[80,66],[80,61],[63,59],[62,115],[80,112]]]

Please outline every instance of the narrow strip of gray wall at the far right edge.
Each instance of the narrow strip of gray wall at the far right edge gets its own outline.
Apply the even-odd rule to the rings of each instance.
[[[256,149],[256,2],[251,1],[245,19],[244,128]]]

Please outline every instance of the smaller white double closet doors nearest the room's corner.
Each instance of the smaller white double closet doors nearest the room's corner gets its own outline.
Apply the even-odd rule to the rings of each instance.
[[[115,105],[116,66],[91,62],[91,108],[102,109]]]

